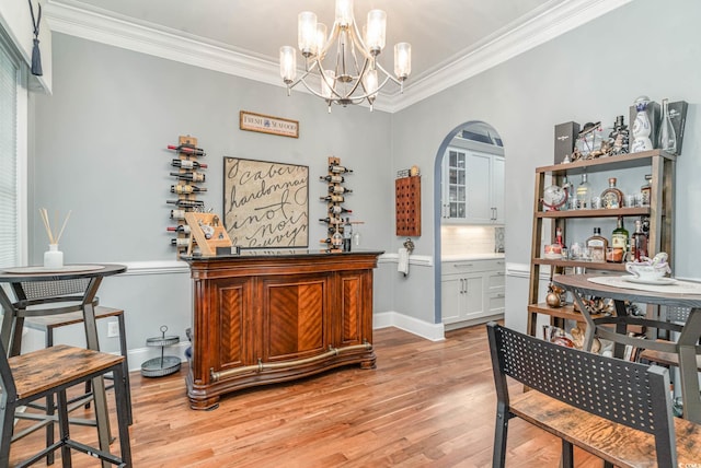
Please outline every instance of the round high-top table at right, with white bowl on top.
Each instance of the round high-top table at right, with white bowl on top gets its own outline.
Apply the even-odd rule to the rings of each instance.
[[[625,281],[629,280],[629,281]],[[699,375],[697,370],[697,343],[701,337],[701,284],[686,281],[668,281],[669,284],[641,284],[623,277],[597,277],[595,274],[560,274],[553,277],[553,283],[572,292],[574,300],[587,323],[585,332],[586,350],[590,350],[594,336],[613,342],[640,347],[639,338],[625,335],[627,325],[642,325],[655,328],[664,326],[652,318],[630,317],[625,312],[625,301],[653,305],[690,308],[689,318],[675,343],[647,340],[646,349],[674,352],[679,355],[681,377],[681,398],[683,416],[701,423],[701,396],[699,395]],[[583,295],[613,300],[616,317],[593,318],[584,304]],[[616,324],[616,330],[606,327]]]

